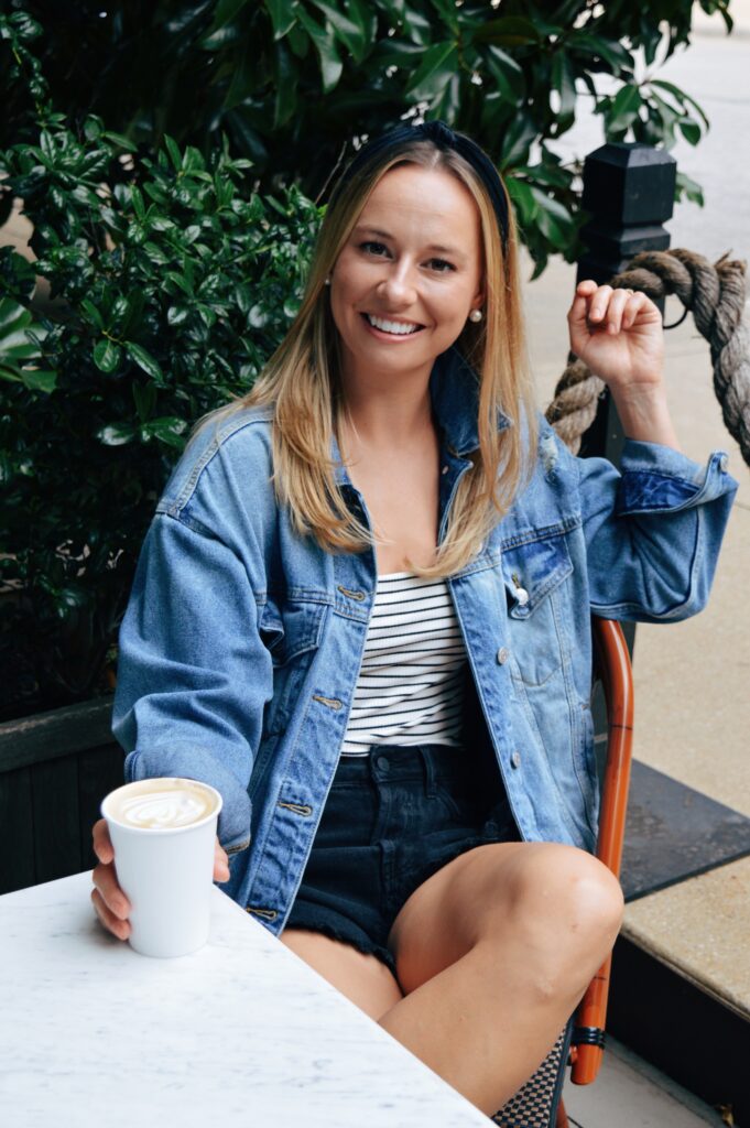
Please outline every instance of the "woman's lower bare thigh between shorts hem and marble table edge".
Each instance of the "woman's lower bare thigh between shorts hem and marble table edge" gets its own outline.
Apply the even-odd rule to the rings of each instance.
[[[306,928],[285,928],[279,938],[376,1021],[404,997],[395,976],[377,955]]]

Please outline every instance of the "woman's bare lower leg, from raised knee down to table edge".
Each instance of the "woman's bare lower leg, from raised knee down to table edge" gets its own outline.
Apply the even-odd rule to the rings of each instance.
[[[546,878],[533,896],[528,896],[529,887],[526,895],[517,889],[506,897],[503,911],[486,918],[482,936],[464,955],[379,1019],[487,1116],[502,1108],[549,1052],[610,951],[621,919],[621,893],[603,866],[598,881],[591,863],[600,863],[580,852],[585,876],[576,879],[571,848],[552,849],[567,852],[559,855],[556,874],[552,855],[537,852],[532,862],[544,860]],[[517,862],[528,860],[528,847],[523,851]],[[538,864],[528,869],[529,881],[535,871],[538,875]],[[443,931],[451,919],[443,917]],[[434,927],[435,920],[430,923]]]

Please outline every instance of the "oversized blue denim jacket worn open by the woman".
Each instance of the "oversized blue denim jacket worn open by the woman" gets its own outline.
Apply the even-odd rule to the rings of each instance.
[[[430,388],[442,539],[478,447],[476,380],[451,350]],[[371,549],[328,553],[292,530],[270,482],[272,417],[241,408],[209,423],[174,470],[121,629],[113,729],[127,782],[174,775],[219,790],[222,888],[279,935],[338,761],[377,567]],[[333,452],[347,504],[369,523]],[[700,467],[628,440],[617,470],[573,457],[540,421],[528,485],[448,581],[524,840],[594,849],[590,615],[669,623],[699,611],[735,491],[722,452]]]

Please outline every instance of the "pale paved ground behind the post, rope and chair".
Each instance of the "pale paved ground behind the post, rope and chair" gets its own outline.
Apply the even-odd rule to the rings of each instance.
[[[678,146],[678,167],[698,180],[706,206],[678,205],[668,224],[673,247],[717,258],[750,258],[750,0],[733,0],[738,28],[700,16],[690,49],[660,77],[698,99],[712,129],[697,149]],[[603,142],[601,123],[582,120],[565,139],[565,156]],[[575,271],[553,264],[527,285],[530,352],[539,399],[549,403],[567,350],[565,312]],[[681,306],[668,303],[668,320]],[[750,314],[750,310],[749,310]],[[635,647],[638,759],[735,810],[750,814],[750,475],[725,431],[712,388],[708,346],[691,319],[668,336],[668,389],[685,451],[704,461],[730,453],[740,481],[708,608],[669,628],[638,626]],[[627,907],[626,934],[689,979],[750,1016],[750,857],[717,867]],[[718,1113],[610,1040],[591,1086],[566,1084],[571,1122],[581,1128],[698,1128]]]

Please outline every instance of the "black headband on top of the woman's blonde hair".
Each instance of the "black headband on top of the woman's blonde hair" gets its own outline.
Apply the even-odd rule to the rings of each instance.
[[[413,144],[415,141],[431,141],[438,149],[442,149],[443,152],[452,150],[471,166],[487,190],[495,215],[497,217],[503,253],[506,253],[509,226],[508,197],[497,169],[476,141],[471,141],[465,133],[456,133],[444,122],[424,122],[423,125],[399,125],[383,133],[381,136],[369,141],[360,149],[356,157],[354,157],[344,170],[333,192],[332,203],[338,197],[342,188],[386,149],[406,149],[407,146]]]

